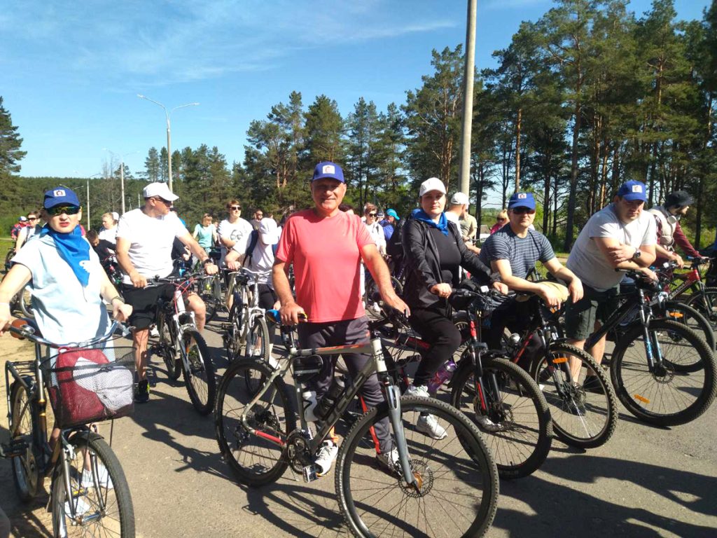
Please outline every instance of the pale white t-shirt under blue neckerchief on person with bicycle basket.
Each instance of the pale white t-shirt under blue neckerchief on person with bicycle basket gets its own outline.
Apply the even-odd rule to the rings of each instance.
[[[57,344],[103,336],[110,318],[100,297],[104,270],[90,248],[90,281],[82,286],[70,265],[60,257],[49,235],[27,242],[12,259],[32,273],[32,308],[42,336]]]

